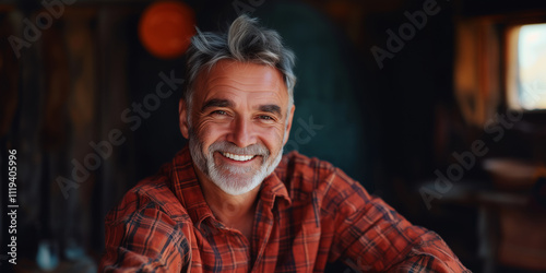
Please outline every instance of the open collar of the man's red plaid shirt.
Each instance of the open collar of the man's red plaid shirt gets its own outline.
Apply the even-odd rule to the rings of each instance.
[[[275,171],[266,177],[260,186],[260,199],[270,209],[273,209],[277,198],[286,200],[288,205],[292,204],[286,186],[276,174],[278,169],[284,169],[285,162],[283,158]],[[163,173],[170,177],[171,190],[195,225],[200,225],[206,217],[214,217],[193,169],[193,161],[188,145],[177,153],[170,166],[163,169]]]

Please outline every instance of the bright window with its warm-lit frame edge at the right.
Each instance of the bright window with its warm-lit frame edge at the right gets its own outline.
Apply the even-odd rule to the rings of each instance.
[[[507,64],[508,106],[546,110],[546,23],[509,31]]]

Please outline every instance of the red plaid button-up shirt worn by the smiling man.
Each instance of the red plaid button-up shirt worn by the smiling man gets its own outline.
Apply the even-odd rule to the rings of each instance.
[[[107,272],[467,271],[437,234],[296,152],[261,185],[251,241],[214,217],[185,147],[109,212],[105,251]]]

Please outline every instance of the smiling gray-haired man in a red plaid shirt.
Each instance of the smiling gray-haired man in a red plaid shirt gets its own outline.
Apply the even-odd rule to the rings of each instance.
[[[189,144],[107,215],[102,271],[467,271],[342,170],[283,156],[296,78],[276,32],[244,15],[226,34],[198,33],[187,55]]]

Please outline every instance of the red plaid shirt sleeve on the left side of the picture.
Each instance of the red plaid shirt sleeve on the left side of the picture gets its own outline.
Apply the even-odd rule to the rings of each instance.
[[[99,272],[187,272],[191,251],[182,224],[153,203],[138,209],[143,200],[124,201],[106,217]]]

